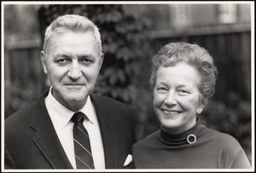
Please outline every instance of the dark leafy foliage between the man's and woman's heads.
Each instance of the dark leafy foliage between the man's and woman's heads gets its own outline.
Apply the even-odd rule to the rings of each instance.
[[[102,14],[89,14],[101,28],[105,60],[98,78],[96,93],[125,102],[137,113],[137,138],[145,136],[148,107],[148,75],[152,52],[147,35],[146,17],[124,13],[122,5],[90,6]],[[99,11],[99,10],[92,10]],[[151,95],[151,94],[149,94]]]

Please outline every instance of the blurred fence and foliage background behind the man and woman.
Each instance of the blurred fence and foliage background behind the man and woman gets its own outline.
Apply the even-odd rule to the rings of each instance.
[[[45,27],[61,14],[87,16],[100,28],[105,60],[95,93],[134,109],[138,140],[160,128],[149,85],[152,57],[177,41],[207,49],[219,75],[201,121],[234,136],[252,162],[250,3],[5,4],[4,118],[49,87],[39,54]]]

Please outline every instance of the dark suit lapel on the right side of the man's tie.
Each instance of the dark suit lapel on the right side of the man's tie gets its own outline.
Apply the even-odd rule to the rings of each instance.
[[[91,101],[96,109],[96,116],[100,124],[106,168],[117,168],[116,124],[106,102],[103,102],[97,95],[91,95]]]

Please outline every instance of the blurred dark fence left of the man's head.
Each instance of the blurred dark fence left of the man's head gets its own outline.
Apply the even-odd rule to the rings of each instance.
[[[4,116],[35,101],[45,89],[40,44],[18,42],[4,49]]]

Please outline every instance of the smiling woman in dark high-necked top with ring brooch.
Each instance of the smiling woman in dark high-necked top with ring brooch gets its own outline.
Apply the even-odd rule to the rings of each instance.
[[[234,137],[200,122],[217,73],[212,56],[197,44],[169,43],[154,56],[150,82],[160,130],[133,146],[136,168],[251,168]]]

